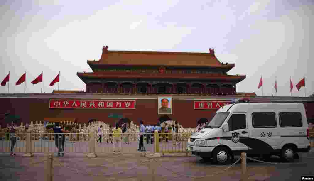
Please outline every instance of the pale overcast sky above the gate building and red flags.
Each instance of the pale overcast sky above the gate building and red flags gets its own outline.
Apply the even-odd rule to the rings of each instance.
[[[13,2],[13,3],[12,3]],[[11,71],[10,93],[24,93],[16,81],[26,73],[26,93],[42,71],[46,93],[61,71],[60,90],[83,90],[76,72],[91,72],[87,59],[109,50],[208,52],[235,63],[229,74],[244,74],[237,92],[290,96],[304,76],[306,96],[314,92],[313,10],[298,1],[1,1],[0,81]],[[0,93],[7,93],[7,86]],[[304,87],[293,96],[304,96]]]

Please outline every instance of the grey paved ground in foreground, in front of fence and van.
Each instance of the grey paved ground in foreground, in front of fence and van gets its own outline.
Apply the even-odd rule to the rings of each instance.
[[[18,154],[10,157],[8,153],[3,153],[0,157],[0,180],[46,180],[44,154],[35,154],[35,157],[22,157]],[[279,158],[272,157],[269,161],[279,162]],[[140,157],[139,153],[101,154],[96,158],[73,153],[66,154],[64,157],[54,155],[53,167],[53,180],[171,181],[180,179],[186,181],[194,178],[184,175],[195,177],[211,175],[222,172],[228,166],[204,162],[199,157],[185,157],[185,154],[166,154],[165,157],[152,160],[148,157]],[[300,180],[301,175],[314,175],[314,152],[301,153],[300,160],[295,163],[264,164],[248,160],[247,171],[249,180]],[[239,180],[240,178],[241,162],[223,173],[198,180]]]

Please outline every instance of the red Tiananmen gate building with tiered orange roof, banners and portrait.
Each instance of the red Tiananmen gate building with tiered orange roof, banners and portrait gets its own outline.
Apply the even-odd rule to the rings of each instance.
[[[77,72],[86,84],[85,92],[0,94],[1,112],[19,115],[24,123],[56,118],[114,125],[118,115],[137,125],[140,119],[145,124],[170,119],[196,127],[199,119],[210,120],[232,99],[249,97],[253,103],[301,102],[308,120],[314,118],[313,98],[237,93],[236,84],[246,76],[227,74],[235,64],[220,62],[214,49],[209,53],[108,51],[104,46],[100,59],[87,64],[93,72]]]

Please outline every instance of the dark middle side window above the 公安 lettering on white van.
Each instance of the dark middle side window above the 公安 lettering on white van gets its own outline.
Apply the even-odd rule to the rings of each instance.
[[[275,128],[277,127],[275,113],[252,113],[253,128]]]

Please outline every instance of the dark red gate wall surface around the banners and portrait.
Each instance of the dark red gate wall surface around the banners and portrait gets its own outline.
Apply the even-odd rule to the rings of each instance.
[[[109,99],[108,99],[109,100]],[[157,99],[134,99],[136,100],[136,109],[49,109],[49,99],[47,98],[0,98],[3,113],[19,115],[23,123],[30,121],[43,120],[45,117],[65,117],[77,118],[79,123],[88,123],[90,119],[104,121],[114,125],[118,118],[108,118],[111,113],[123,114],[137,125],[139,119],[143,119],[144,123],[157,123],[161,115],[157,114]],[[196,123],[200,118],[210,120],[216,110],[194,110],[194,100],[173,100],[172,120],[177,120],[183,127],[196,127]],[[314,118],[314,102],[304,103],[307,118]],[[0,118],[1,119],[1,118]],[[20,123],[18,123],[20,125]],[[2,122],[2,127],[6,127],[7,123]]]

